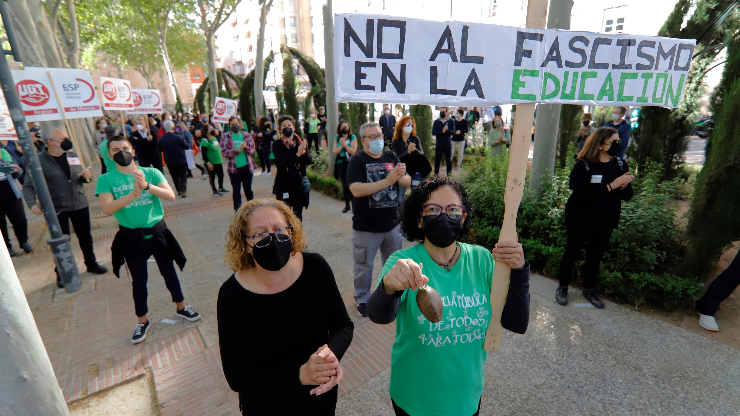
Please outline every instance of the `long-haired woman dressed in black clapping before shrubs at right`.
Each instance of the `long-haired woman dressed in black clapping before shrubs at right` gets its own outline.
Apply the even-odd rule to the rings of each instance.
[[[560,284],[555,292],[559,304],[568,304],[568,284],[581,249],[586,248],[583,296],[599,309],[604,303],[596,296],[596,276],[614,228],[619,225],[622,200],[632,198],[633,177],[624,160],[616,157],[621,147],[616,129],[602,127],[593,132],[578,154],[569,186],[573,194],[565,204],[565,231],[568,242],[560,261]]]

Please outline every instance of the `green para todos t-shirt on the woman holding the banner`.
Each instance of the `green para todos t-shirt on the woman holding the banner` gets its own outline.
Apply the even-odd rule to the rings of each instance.
[[[409,415],[473,415],[483,392],[494,259],[480,245],[459,244],[460,259],[450,271],[418,244],[393,253],[380,272],[378,283],[398,259],[423,263],[428,285],[442,296],[443,320],[437,324],[420,312],[417,292],[406,290],[400,298],[388,390]]]

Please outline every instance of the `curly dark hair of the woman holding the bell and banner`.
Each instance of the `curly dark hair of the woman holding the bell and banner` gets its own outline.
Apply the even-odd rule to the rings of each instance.
[[[440,186],[450,187],[460,197],[460,203],[465,207],[465,214],[468,214],[468,216],[465,217],[465,222],[462,223],[462,232],[457,238],[461,239],[468,235],[468,228],[473,219],[473,208],[465,187],[451,177],[428,177],[411,191],[411,194],[406,197],[406,200],[403,200],[403,207],[401,208],[401,233],[403,233],[403,236],[408,241],[424,242],[424,232],[419,228],[419,219],[422,212],[421,206],[429,200],[431,193],[437,188],[440,188]]]

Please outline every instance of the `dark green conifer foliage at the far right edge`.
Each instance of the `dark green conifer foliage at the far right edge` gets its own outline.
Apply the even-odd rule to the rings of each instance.
[[[687,276],[704,277],[730,242],[740,238],[740,41],[733,38],[713,98],[712,147],[696,178],[687,226]]]

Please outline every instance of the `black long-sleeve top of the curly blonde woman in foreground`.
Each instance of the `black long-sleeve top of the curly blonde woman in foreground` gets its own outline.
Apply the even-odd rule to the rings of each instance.
[[[280,293],[250,292],[232,275],[218,291],[216,313],[223,375],[245,415],[313,415],[327,399],[336,401],[337,386],[315,396],[309,391],[316,386],[299,380],[300,366],[323,344],[341,359],[354,331],[320,254],[303,253],[303,271]]]

